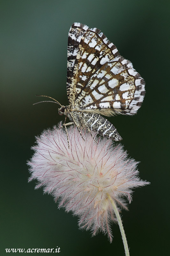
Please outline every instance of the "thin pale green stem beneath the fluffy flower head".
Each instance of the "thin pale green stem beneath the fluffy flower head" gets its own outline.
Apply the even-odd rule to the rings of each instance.
[[[108,196],[108,199],[110,200],[110,202],[113,206],[113,209],[114,209],[114,212],[115,212],[115,215],[116,215],[116,219],[117,219],[117,222],[119,224],[119,228],[120,228],[121,235],[122,235],[122,240],[123,240],[123,245],[124,245],[124,250],[125,250],[125,255],[129,256],[129,248],[128,248],[128,243],[127,243],[127,240],[126,240],[126,235],[125,235],[125,232],[124,232],[124,229],[123,229],[121,216],[120,216],[120,214],[117,210],[117,207],[115,205],[114,200],[111,198],[111,196],[109,194],[107,194],[107,196]]]

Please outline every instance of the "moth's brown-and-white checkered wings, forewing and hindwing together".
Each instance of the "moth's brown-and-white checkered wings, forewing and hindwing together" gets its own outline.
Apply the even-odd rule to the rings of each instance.
[[[69,102],[78,109],[106,116],[135,114],[145,91],[144,80],[132,63],[123,59],[97,28],[74,23],[69,38],[72,44],[68,46],[68,68],[72,69],[67,84]]]

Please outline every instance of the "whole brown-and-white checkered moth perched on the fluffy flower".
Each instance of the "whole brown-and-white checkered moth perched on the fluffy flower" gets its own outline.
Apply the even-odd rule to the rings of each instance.
[[[122,137],[115,126],[103,116],[136,114],[144,99],[144,84],[144,79],[132,63],[119,54],[115,45],[99,29],[74,23],[68,36],[69,105],[63,106],[46,95],[37,96],[53,99],[61,106],[58,113],[65,115],[63,127],[68,146],[66,126],[70,124],[76,125],[80,134],[81,128],[86,128],[91,136],[91,131],[95,131],[119,141]],[[69,123],[66,123],[67,117]]]

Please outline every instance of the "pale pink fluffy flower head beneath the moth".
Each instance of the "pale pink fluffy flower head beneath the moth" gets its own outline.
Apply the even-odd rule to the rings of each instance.
[[[77,128],[70,126],[68,148],[63,129],[42,132],[28,163],[30,180],[37,179],[36,188],[43,186],[59,207],[77,215],[80,228],[91,229],[92,235],[102,231],[112,241],[110,223],[115,214],[108,195],[119,209],[127,209],[125,198],[131,202],[132,188],[149,182],[140,180],[137,162],[127,157],[120,144],[107,138],[96,143],[88,132],[82,134],[85,141]]]

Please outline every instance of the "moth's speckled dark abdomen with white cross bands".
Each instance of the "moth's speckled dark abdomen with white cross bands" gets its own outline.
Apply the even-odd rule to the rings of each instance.
[[[115,126],[111,124],[105,117],[95,113],[83,113],[86,125],[90,130],[98,132],[104,137],[111,138],[113,140],[122,140],[121,136],[117,132]]]

